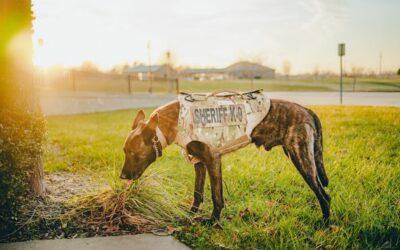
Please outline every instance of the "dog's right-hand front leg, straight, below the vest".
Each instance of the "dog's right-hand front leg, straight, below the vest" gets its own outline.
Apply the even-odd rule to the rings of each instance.
[[[211,194],[214,209],[211,214],[211,220],[219,220],[221,210],[224,207],[224,197],[222,190],[222,171],[221,156],[214,155],[211,162],[207,163],[207,171],[210,176]]]

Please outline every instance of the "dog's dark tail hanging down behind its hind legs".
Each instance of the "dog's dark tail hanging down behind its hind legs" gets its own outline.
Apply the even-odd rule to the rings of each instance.
[[[315,160],[315,165],[317,166],[317,172],[318,172],[318,177],[319,180],[321,181],[321,184],[326,187],[328,186],[329,180],[328,176],[326,175],[325,172],[325,167],[324,167],[324,158],[322,155],[323,151],[323,146],[322,146],[322,126],[321,122],[318,118],[318,116],[312,111],[308,110],[308,112],[311,114],[311,116],[314,119],[315,123],[315,128],[317,135],[315,137],[314,141],[314,160]]]

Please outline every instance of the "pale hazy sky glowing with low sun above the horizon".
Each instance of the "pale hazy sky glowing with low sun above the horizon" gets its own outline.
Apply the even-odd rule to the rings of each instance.
[[[400,68],[399,0],[33,0],[33,11],[38,66],[157,64],[170,50],[192,67],[337,72],[344,42],[347,70],[378,71],[380,55],[383,71]]]

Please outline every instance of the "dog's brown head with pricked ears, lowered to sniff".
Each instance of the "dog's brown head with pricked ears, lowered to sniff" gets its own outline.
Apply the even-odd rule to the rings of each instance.
[[[132,130],[125,140],[125,163],[120,175],[121,179],[138,179],[156,160],[157,152],[154,143],[157,140],[157,125],[157,113],[151,116],[148,122],[145,122],[143,110],[138,112],[133,120]]]

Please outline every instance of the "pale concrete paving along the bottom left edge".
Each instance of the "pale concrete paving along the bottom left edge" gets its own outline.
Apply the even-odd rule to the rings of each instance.
[[[187,250],[184,244],[171,236],[152,234],[94,237],[61,240],[34,240],[0,244],[4,250]]]

